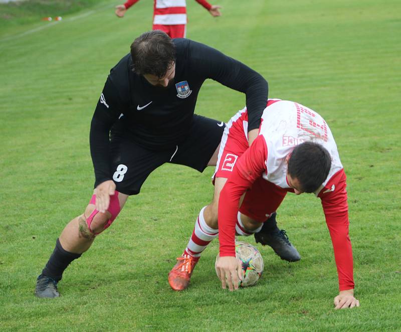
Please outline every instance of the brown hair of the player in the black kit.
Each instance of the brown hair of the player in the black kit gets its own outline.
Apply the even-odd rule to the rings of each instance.
[[[161,30],[143,33],[131,44],[132,71],[163,77],[175,62],[175,45]]]

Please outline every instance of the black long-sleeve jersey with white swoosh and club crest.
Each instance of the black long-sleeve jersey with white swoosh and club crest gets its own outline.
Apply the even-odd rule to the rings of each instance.
[[[208,78],[246,94],[248,130],[259,128],[268,85],[257,72],[223,53],[188,39],[176,46],[174,84],[151,85],[132,71],[130,54],[113,67],[97,103],[90,130],[96,182],[111,180],[110,134],[152,150],[165,150],[185,139],[200,87]],[[201,138],[200,138],[201,139]]]

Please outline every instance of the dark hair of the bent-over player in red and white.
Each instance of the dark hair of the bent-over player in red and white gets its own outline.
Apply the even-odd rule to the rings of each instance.
[[[288,174],[297,179],[301,191],[313,193],[326,180],[331,168],[331,156],[320,144],[304,142],[297,145],[288,160]]]

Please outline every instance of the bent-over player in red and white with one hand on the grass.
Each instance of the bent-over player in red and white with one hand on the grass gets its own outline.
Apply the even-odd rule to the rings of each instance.
[[[242,267],[235,257],[235,235],[255,234],[257,242],[266,244],[265,228],[270,228],[267,218],[287,192],[313,192],[321,199],[334,248],[340,290],[334,299],[336,308],[359,306],[353,296],[346,178],[327,123],[301,104],[269,99],[259,135],[249,148],[247,126],[246,108],[226,126],[214,175],[213,203],[199,214],[183,254],[189,259],[180,270],[179,263],[171,270],[171,287],[175,289],[180,282],[187,287],[200,253],[219,235],[218,275],[223,288],[238,289]]]

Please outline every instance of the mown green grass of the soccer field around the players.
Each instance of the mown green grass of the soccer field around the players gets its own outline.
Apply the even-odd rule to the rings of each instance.
[[[320,200],[307,194],[287,195],[278,210],[300,262],[258,245],[261,280],[229,292],[215,273],[215,240],[190,287],[173,292],[167,273],[212,198],[214,172],[177,165],[157,169],[129,198],[66,270],[60,298],[34,296],[57,237],[91,197],[89,127],[109,70],[151,28],[151,1],[124,19],[114,16],[118,2],[102,2],[0,31],[0,330],[400,330],[401,3],[222,0],[218,19],[187,3],[188,38],[260,72],[269,97],[328,122],[347,174],[361,306],[333,308],[333,249]],[[244,104],[209,80],[196,113],[228,121]]]

